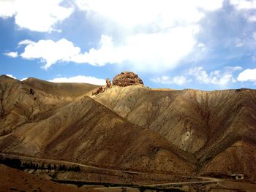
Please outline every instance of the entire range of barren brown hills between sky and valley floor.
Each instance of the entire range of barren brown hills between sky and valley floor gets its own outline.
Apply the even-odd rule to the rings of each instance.
[[[99,87],[1,76],[0,152],[256,180],[255,90],[151,89],[118,77],[121,86]]]

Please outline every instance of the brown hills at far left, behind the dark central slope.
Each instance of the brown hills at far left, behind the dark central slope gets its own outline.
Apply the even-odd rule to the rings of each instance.
[[[0,76],[0,136],[26,123],[50,117],[59,107],[74,100],[97,85],[53,83],[34,78],[23,82]]]

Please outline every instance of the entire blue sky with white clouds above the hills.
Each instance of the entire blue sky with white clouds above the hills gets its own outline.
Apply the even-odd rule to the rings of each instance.
[[[256,88],[256,0],[0,0],[0,74]]]

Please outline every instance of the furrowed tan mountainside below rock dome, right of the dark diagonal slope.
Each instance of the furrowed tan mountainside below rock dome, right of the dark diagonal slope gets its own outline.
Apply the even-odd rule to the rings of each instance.
[[[242,173],[255,179],[255,90],[129,86],[113,87],[93,99],[194,155],[202,174]]]

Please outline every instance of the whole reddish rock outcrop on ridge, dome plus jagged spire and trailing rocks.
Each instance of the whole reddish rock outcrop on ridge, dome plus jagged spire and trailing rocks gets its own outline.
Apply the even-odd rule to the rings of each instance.
[[[143,85],[143,81],[138,77],[138,74],[134,72],[121,72],[121,74],[116,75],[113,78],[113,85],[117,85],[119,87],[127,87],[130,85]],[[99,93],[103,93],[107,89],[112,87],[112,83],[109,78],[106,80],[106,85],[97,89],[97,91],[93,92],[92,95],[97,95]]]

